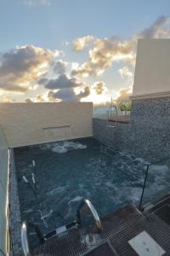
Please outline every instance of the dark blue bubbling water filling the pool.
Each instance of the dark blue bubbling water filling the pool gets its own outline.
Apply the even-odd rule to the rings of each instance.
[[[44,233],[74,220],[82,197],[94,204],[99,216],[139,204],[146,162],[114,152],[94,138],[15,148],[14,156],[21,219],[38,224]],[[31,172],[36,193],[23,179],[33,186]]]

